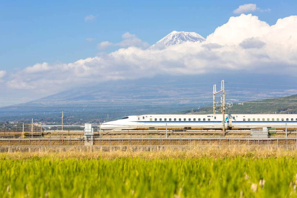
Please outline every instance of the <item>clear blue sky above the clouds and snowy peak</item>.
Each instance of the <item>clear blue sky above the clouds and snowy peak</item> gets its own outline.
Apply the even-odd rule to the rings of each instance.
[[[102,41],[120,42],[125,32],[154,44],[173,30],[206,37],[253,3],[270,25],[296,15],[297,1],[6,1],[0,3],[0,69],[7,73],[36,63],[69,63],[99,52]],[[93,15],[93,20],[85,20]],[[87,38],[94,39],[89,42]]]

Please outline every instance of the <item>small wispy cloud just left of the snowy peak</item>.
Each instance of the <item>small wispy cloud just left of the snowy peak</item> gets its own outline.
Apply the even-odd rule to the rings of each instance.
[[[139,38],[136,37],[135,34],[130,34],[129,32],[126,32],[122,35],[123,40],[118,43],[113,43],[109,41],[103,41],[98,43],[97,48],[99,50],[104,50],[111,46],[117,46],[117,47],[140,47],[142,49],[148,48],[150,45],[147,42],[141,41]]]

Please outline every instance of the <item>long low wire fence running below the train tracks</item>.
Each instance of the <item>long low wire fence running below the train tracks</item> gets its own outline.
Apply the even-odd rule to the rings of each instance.
[[[146,135],[107,136],[107,137],[1,137],[0,146],[71,146],[71,145],[297,145],[297,137],[193,137],[193,136],[169,136]]]

